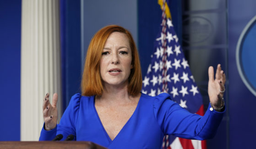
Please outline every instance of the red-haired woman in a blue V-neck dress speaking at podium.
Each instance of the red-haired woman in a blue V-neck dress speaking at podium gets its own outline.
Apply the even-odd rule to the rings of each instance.
[[[57,125],[57,94],[52,105],[44,99],[44,128],[39,140],[69,134],[110,149],[159,149],[163,136],[212,138],[223,117],[225,74],[220,65],[216,79],[209,67],[209,108],[205,115],[191,114],[170,100],[169,94],[151,97],[141,93],[142,75],[131,33],[120,26],[98,31],[87,51],[82,95],[75,94]],[[215,110],[213,110],[215,109]]]

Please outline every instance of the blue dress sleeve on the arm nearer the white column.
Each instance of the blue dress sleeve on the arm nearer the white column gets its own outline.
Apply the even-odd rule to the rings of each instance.
[[[62,134],[65,140],[70,134],[74,135],[74,140],[76,140],[76,121],[79,113],[81,94],[77,93],[71,97],[70,103],[63,113],[60,124],[50,130],[46,131],[44,127],[42,128],[39,140],[51,140],[57,134]]]

